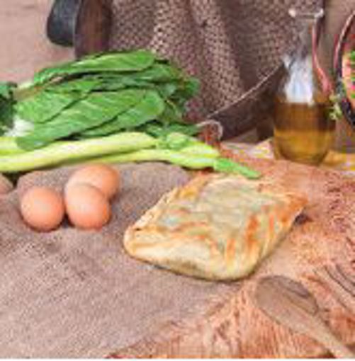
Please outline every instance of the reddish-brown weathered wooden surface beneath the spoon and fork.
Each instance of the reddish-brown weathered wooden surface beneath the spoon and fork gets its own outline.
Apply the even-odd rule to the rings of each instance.
[[[346,344],[355,343],[355,309],[349,311],[315,275],[338,263],[355,277],[355,182],[340,173],[286,161],[241,159],[273,181],[308,196],[309,205],[280,247],[240,290],[201,304],[195,316],[158,326],[156,332],[115,357],[320,357],[315,341],[279,326],[254,300],[260,277],[286,275],[303,282],[323,319]],[[275,299],[275,302],[278,302]]]

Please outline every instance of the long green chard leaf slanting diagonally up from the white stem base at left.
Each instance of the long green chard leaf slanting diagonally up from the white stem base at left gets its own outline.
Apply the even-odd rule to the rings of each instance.
[[[92,127],[108,122],[132,108],[145,96],[145,91],[130,89],[115,93],[91,93],[87,98],[64,109],[55,118],[40,124],[25,137],[16,139],[25,150],[44,147],[57,139],[67,139]]]

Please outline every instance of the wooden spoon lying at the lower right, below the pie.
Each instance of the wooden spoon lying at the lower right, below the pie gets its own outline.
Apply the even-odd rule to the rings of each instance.
[[[299,282],[288,277],[262,278],[255,292],[260,309],[283,326],[317,340],[338,358],[354,358],[322,321],[315,298]]]

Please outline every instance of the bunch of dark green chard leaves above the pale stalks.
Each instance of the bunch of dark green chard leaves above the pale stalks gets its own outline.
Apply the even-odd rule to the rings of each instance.
[[[18,87],[1,84],[0,132],[26,151],[123,131],[196,134],[184,113],[197,91],[197,79],[150,51],[90,55]]]

